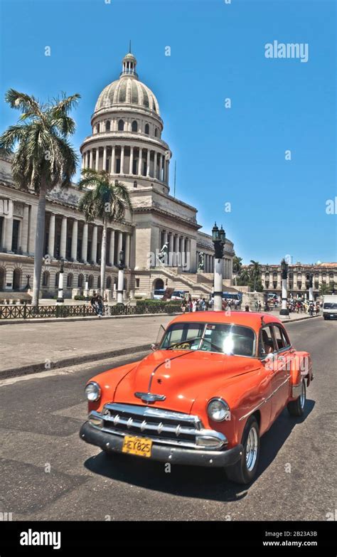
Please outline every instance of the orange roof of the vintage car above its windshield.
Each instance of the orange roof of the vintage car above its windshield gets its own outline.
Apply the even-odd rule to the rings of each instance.
[[[278,323],[282,321],[274,315],[269,315],[262,312],[191,312],[188,314],[178,315],[171,323],[179,322],[209,322],[209,323],[231,323],[235,325],[243,325],[245,327],[252,327],[252,329],[260,329],[262,324]]]

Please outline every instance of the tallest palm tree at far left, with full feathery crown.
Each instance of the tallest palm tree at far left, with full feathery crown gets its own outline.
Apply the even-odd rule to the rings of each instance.
[[[70,185],[78,161],[68,142],[75,132],[69,116],[80,95],[75,94],[42,104],[33,95],[9,89],[5,100],[21,110],[17,124],[9,126],[0,137],[0,148],[13,154],[12,171],[19,189],[38,193],[38,214],[34,249],[33,306],[38,306],[45,236],[46,194],[57,184]],[[15,151],[14,151],[15,149]]]

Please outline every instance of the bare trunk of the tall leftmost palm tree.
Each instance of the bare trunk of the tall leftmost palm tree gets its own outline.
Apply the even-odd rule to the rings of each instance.
[[[36,218],[36,236],[34,248],[34,277],[33,277],[33,299],[32,305],[38,306],[38,295],[41,285],[41,270],[43,258],[43,246],[45,240],[45,218],[46,218],[46,179],[41,179],[40,194],[38,197],[38,215]]]

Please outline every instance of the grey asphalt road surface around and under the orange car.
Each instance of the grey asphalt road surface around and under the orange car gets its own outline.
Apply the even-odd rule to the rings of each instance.
[[[14,520],[326,520],[337,508],[337,322],[287,329],[298,349],[311,351],[315,378],[304,419],[284,411],[262,438],[250,487],[230,484],[221,470],[176,466],[168,474],[161,463],[112,461],[82,442],[82,387],[105,361],[0,383],[0,511]]]

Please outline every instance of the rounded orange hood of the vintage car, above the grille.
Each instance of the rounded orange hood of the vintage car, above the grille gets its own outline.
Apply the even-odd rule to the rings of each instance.
[[[167,408],[190,413],[198,396],[219,396],[218,389],[228,379],[249,373],[257,361],[245,356],[227,356],[203,351],[159,350],[149,354],[119,382],[114,402],[147,405],[135,393],[165,396],[153,403],[154,408]]]

